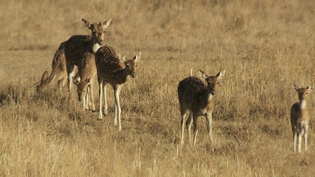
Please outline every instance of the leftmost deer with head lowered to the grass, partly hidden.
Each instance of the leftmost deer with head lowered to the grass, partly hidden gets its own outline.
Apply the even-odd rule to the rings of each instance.
[[[48,72],[45,71],[40,80],[40,84],[37,86],[37,91],[45,89],[54,81],[58,82],[58,88],[61,89],[65,86],[67,81],[67,68],[66,61],[64,57],[64,44],[61,43],[58,50],[55,53],[55,56],[52,61],[52,70],[50,76],[48,76]],[[78,74],[75,76],[79,77]]]

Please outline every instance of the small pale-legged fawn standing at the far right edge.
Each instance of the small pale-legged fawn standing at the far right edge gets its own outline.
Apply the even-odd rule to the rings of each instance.
[[[291,127],[293,133],[293,150],[296,151],[296,136],[298,151],[301,152],[301,141],[302,135],[304,136],[305,147],[304,150],[307,150],[307,131],[309,128],[310,114],[307,111],[306,98],[308,93],[314,88],[314,84],[309,85],[307,88],[298,88],[295,84],[292,84],[292,88],[299,95],[299,102],[296,102],[291,107]]]

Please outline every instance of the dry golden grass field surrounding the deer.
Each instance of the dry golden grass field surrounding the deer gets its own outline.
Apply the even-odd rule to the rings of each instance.
[[[314,176],[315,93],[301,154],[293,152],[289,114],[298,101],[291,83],[315,82],[315,1],[0,1],[1,177]],[[142,52],[137,77],[121,91],[121,132],[111,87],[102,121],[81,109],[74,87],[71,97],[66,87],[32,87],[50,73],[61,42],[91,35],[81,18],[112,18],[105,44],[128,59]],[[180,148],[179,81],[191,69],[197,76],[224,68],[213,144],[199,117],[196,145],[185,130]]]

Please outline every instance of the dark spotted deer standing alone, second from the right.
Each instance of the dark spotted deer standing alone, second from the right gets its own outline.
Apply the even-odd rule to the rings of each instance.
[[[193,144],[196,144],[197,117],[206,116],[207,130],[210,142],[212,142],[212,112],[215,107],[214,95],[217,93],[219,80],[222,79],[225,69],[219,72],[216,76],[207,76],[206,73],[199,70],[199,76],[206,80],[207,86],[197,77],[189,76],[182,80],[178,85],[178,99],[181,107],[182,116],[182,135],[181,144],[184,143],[184,120],[189,110],[189,117],[186,121],[188,131],[188,140],[190,143],[190,127],[193,121]]]

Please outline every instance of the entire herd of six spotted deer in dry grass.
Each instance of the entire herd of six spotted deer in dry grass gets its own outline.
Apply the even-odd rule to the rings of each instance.
[[[52,61],[52,71],[48,76],[45,71],[37,86],[40,91],[53,83],[58,84],[61,89],[68,81],[68,90],[71,91],[72,82],[77,86],[78,100],[83,102],[83,109],[92,109],[95,112],[94,104],[94,80],[97,76],[99,87],[99,115],[102,120],[103,114],[108,113],[106,101],[106,86],[109,84],[114,89],[115,114],[114,124],[118,130],[121,126],[121,107],[119,103],[119,94],[121,86],[126,83],[129,76],[136,77],[136,62],[140,60],[141,52],[133,59],[126,59],[125,56],[118,54],[110,46],[104,45],[105,29],[108,28],[112,19],[103,23],[90,24],[82,19],[85,28],[90,29],[92,34],[73,35],[67,41],[60,44]],[[77,69],[76,69],[77,68]],[[74,76],[74,72],[77,74]],[[199,70],[199,77],[206,81],[207,85],[197,77],[189,76],[179,82],[178,99],[181,113],[181,145],[184,143],[185,116],[189,110],[189,116],[186,120],[186,129],[188,132],[188,141],[190,142],[190,127],[193,123],[193,145],[196,143],[197,117],[205,116],[209,141],[212,143],[212,113],[215,107],[215,95],[219,86],[219,81],[225,74],[225,69],[215,76],[208,76],[205,72]],[[304,137],[305,148],[307,150],[307,134],[310,115],[307,110],[306,99],[308,93],[314,88],[314,84],[307,88],[298,88],[292,84],[292,88],[298,93],[299,102],[291,107],[290,120],[293,134],[293,150],[296,151],[296,139],[298,152],[301,152],[302,136]],[[104,97],[104,111],[102,111],[102,97]]]

